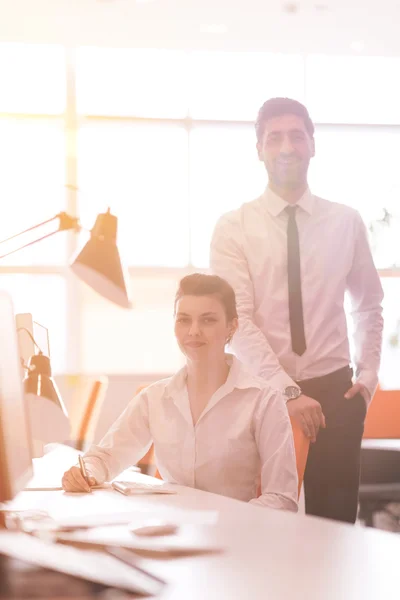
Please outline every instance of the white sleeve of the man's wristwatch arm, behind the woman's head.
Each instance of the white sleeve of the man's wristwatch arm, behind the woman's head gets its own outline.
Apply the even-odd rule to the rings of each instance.
[[[210,250],[211,271],[226,279],[236,294],[239,328],[233,337],[232,349],[254,374],[275,389],[284,390],[297,384],[283,370],[264,333],[254,323],[253,282],[241,239],[238,218],[235,213],[229,213],[218,221]]]

